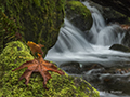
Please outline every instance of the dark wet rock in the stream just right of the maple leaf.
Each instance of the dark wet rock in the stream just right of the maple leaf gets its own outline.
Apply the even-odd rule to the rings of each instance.
[[[80,65],[77,61],[64,63],[60,66],[60,68],[68,73],[75,73],[75,74],[81,73]]]

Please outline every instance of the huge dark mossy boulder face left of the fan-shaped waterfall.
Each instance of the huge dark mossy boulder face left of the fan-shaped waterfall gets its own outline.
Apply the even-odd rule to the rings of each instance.
[[[65,0],[0,0],[8,18],[13,18],[26,41],[52,47],[64,22]],[[14,30],[15,31],[15,30]]]

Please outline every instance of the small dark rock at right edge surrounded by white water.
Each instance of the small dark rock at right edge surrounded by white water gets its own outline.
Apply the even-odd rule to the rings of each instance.
[[[109,50],[121,51],[121,52],[130,52],[130,48],[121,45],[121,44],[113,44]]]

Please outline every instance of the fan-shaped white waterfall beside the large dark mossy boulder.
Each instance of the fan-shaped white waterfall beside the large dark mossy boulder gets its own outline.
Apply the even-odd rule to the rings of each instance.
[[[92,46],[88,43],[86,34],[74,27],[67,18],[64,19],[64,27],[60,29],[58,41],[53,47],[57,52],[89,52]]]

